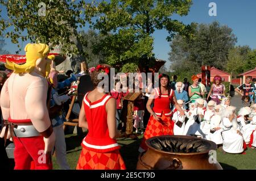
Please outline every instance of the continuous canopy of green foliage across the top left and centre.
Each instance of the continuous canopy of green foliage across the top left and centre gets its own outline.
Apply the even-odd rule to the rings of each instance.
[[[63,53],[69,53],[74,68],[77,62],[73,59],[82,61],[81,56],[89,54],[88,45],[80,42],[77,33],[86,22],[104,37],[97,46],[93,45],[94,54],[104,53],[104,60],[99,61],[119,69],[135,68],[133,64],[139,64],[142,57],[154,57],[155,30],[167,30],[168,41],[175,33],[191,37],[193,30],[193,24],[185,25],[171,18],[173,14],[187,15],[192,0],[0,0],[0,5],[0,35],[10,37],[15,44],[30,40],[49,44],[52,49],[61,47]]]

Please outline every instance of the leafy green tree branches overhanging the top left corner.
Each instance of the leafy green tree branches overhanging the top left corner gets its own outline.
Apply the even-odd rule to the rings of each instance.
[[[69,54],[73,69],[80,66],[76,61],[85,61],[77,39],[77,28],[86,23],[85,1],[0,0],[0,5],[0,35],[10,37],[12,43],[30,40],[49,44],[51,49],[59,51],[57,53]]]

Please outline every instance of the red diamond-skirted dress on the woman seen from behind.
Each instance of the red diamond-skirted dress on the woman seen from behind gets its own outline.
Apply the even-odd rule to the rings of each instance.
[[[112,96],[104,95],[100,100],[91,103],[87,98],[88,93],[83,104],[89,132],[82,140],[82,151],[76,169],[126,169],[119,153],[120,146],[115,139],[109,137],[105,106]]]

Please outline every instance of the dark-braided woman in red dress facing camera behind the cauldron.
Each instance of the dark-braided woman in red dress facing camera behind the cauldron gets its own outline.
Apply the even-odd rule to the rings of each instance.
[[[150,95],[147,101],[147,110],[150,112],[150,119],[148,120],[146,131],[142,139],[139,152],[147,150],[145,141],[148,138],[161,135],[174,134],[174,122],[171,119],[172,111],[170,104],[173,103],[176,110],[180,111],[179,116],[184,115],[182,110],[177,104],[177,100],[174,94],[174,90],[168,87],[170,78],[166,74],[159,75],[160,86],[154,89],[154,92]],[[151,104],[154,102],[154,107],[151,108]]]

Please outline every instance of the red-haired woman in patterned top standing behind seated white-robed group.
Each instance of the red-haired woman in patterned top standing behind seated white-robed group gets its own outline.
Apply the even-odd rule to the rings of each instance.
[[[222,98],[225,97],[225,86],[221,83],[221,77],[220,75],[216,75],[213,78],[213,84],[212,87],[210,87],[209,94],[207,96],[207,100],[209,99],[213,100],[214,102],[218,104],[221,103]]]

